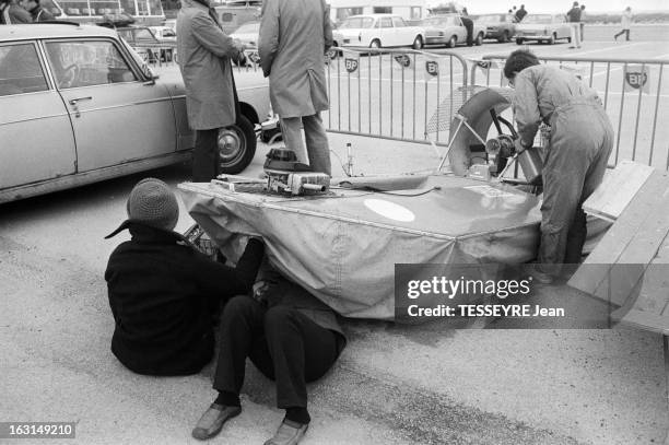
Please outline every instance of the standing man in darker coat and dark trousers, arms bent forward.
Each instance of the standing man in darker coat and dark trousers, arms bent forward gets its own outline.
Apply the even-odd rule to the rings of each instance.
[[[183,0],[177,16],[177,51],[188,124],[196,131],[192,180],[208,183],[216,176],[219,129],[235,124],[237,118],[230,60],[243,57],[244,45],[221,30],[209,0]]]

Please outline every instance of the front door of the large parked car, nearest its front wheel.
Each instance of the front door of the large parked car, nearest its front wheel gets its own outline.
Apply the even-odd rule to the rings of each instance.
[[[176,150],[167,89],[143,79],[118,42],[82,38],[44,45],[71,116],[79,172]]]

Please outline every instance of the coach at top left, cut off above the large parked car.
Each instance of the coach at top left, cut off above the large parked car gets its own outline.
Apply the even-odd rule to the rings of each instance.
[[[40,0],[39,4],[57,20],[77,23],[102,23],[117,15],[148,26],[165,22],[161,0]]]

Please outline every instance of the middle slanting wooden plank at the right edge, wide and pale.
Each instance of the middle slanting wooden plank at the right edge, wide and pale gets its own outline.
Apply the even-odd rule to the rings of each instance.
[[[567,284],[588,294],[596,294],[597,289],[609,277],[612,265],[619,262],[621,255],[627,249],[630,243],[639,233],[643,233],[649,221],[657,220],[660,210],[658,204],[664,200],[667,190],[669,190],[667,172],[654,171],[632,202],[615,221],[615,224],[609,229],[607,235],[590,253],[584,262],[585,267],[578,268]],[[669,212],[669,209],[665,211]],[[655,255],[655,250],[653,255]],[[648,264],[650,259],[648,258],[645,264]],[[602,266],[594,270],[587,265]]]

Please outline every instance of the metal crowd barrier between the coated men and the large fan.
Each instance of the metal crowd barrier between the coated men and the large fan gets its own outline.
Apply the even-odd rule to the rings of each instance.
[[[332,48],[328,60],[329,131],[446,143],[466,98],[466,60],[454,52]]]

